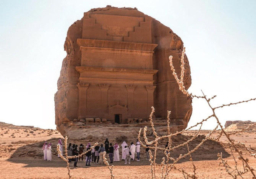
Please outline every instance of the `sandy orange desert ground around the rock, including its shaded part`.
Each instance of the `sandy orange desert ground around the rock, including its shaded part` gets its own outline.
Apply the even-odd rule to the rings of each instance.
[[[228,132],[241,129],[232,124],[227,128]],[[207,135],[209,131],[200,131],[198,137],[190,142],[189,147],[192,149],[198,145]],[[219,131],[214,132],[212,137],[216,137]],[[186,131],[183,135],[173,137],[173,146],[181,144],[196,134],[196,131]],[[12,124],[0,123],[0,161],[2,168],[0,178],[2,179],[62,179],[68,178],[66,162],[57,157],[57,143],[58,139],[64,139],[63,136],[53,129],[40,129],[33,126],[14,126]],[[154,139],[153,135],[148,137],[149,140]],[[252,148],[256,148],[256,127],[254,129],[240,132],[232,135],[231,138],[236,141],[245,143]],[[143,137],[141,137],[143,140]],[[94,144],[95,142],[104,143],[105,139],[90,137],[90,139],[68,140],[68,143],[80,145],[81,143],[87,145],[88,142]],[[52,142],[52,161],[44,161],[42,145],[43,143]],[[64,144],[64,140],[63,144]],[[109,139],[110,142],[115,143],[115,139]],[[136,138],[128,139],[127,144],[135,142]],[[164,147],[167,140],[160,140],[160,146]],[[119,143],[121,145],[121,143]],[[238,146],[239,147],[239,146]],[[239,147],[240,150],[244,150]],[[232,155],[230,155],[230,148],[227,144],[227,139],[222,136],[219,142],[214,140],[207,140],[202,146],[192,153],[192,158],[196,166],[196,176],[201,179],[217,179],[217,178],[232,178],[225,167],[217,160],[217,153],[222,152],[224,160],[232,167],[229,169],[233,171],[235,162]],[[177,158],[179,154],[187,153],[186,147],[179,147],[172,152],[172,156]],[[121,148],[119,149],[121,156]],[[249,159],[251,167],[256,168],[256,158],[244,151],[243,155]],[[157,155],[157,161],[162,161],[164,154],[160,151]],[[237,159],[237,154],[235,154]],[[109,159],[108,159],[109,160]],[[240,160],[237,159],[238,170],[243,171],[243,166]],[[78,161],[79,167],[74,168],[73,162],[70,163],[70,174],[72,178],[85,179],[108,179],[110,178],[109,169],[105,165],[91,164],[85,165],[85,160]],[[113,174],[116,179],[130,179],[143,178],[151,179],[151,166],[145,155],[145,149],[141,147],[141,160],[132,161],[131,164],[124,164],[124,161],[113,163]],[[188,174],[193,174],[193,165],[189,158],[182,159],[176,165],[177,168],[183,168]],[[157,178],[161,176],[160,166],[156,167]],[[183,174],[177,170],[170,171],[168,179],[184,178]],[[238,176],[239,178],[239,176]],[[252,178],[250,172],[243,175],[243,178]]]

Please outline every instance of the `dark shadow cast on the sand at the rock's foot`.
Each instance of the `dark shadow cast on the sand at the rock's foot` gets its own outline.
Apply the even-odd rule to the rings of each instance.
[[[149,141],[152,138],[149,137]],[[199,135],[194,139],[193,141],[189,142],[189,148],[190,150],[193,150],[203,139],[205,138],[204,135]],[[153,138],[152,138],[153,139]],[[183,144],[184,142],[188,141],[191,139],[191,136],[188,135],[178,135],[178,136],[173,136],[172,137],[172,147]],[[112,139],[109,139],[110,142],[114,141]],[[134,141],[136,139],[133,139]],[[19,144],[22,141],[18,141]],[[8,159],[10,162],[14,163],[24,163],[26,164],[25,167],[66,167],[66,162],[63,161],[61,158],[58,158],[57,154],[57,144],[58,144],[58,139],[57,138],[52,138],[47,140],[47,142],[52,143],[52,161],[44,161],[43,159],[43,152],[42,152],[42,146],[45,141],[41,142],[33,142],[31,144],[24,145],[22,147],[19,147],[16,149],[16,151],[11,155],[11,157]],[[71,142],[72,144],[87,144],[89,142],[88,140],[70,140],[68,143]],[[129,140],[131,142],[131,140]],[[159,140],[159,147],[165,147],[167,140]],[[112,142],[114,143],[114,142]],[[16,143],[18,144],[18,143]],[[93,144],[93,142],[91,142]],[[128,144],[128,142],[127,142]],[[13,143],[15,145],[15,142]],[[224,146],[225,147],[225,146]],[[213,141],[213,140],[206,140],[203,145],[201,145],[198,150],[193,152],[191,154],[193,161],[201,161],[201,160],[217,160],[217,153],[222,152],[222,156],[228,157],[230,156],[229,153],[225,151],[225,148],[220,144],[219,142]],[[121,155],[121,148],[119,149],[119,154]],[[152,153],[154,154],[154,150],[152,150]],[[178,158],[180,154],[186,154],[188,153],[187,146],[184,145],[182,147],[178,147],[171,151],[171,156],[173,158]],[[164,152],[158,150],[157,152],[157,163],[160,163],[162,161],[162,158],[164,157]],[[120,156],[121,159],[121,156]],[[132,163],[133,165],[149,165],[149,161],[146,160],[146,154],[145,154],[145,149],[141,147],[141,161],[139,162],[134,162]],[[136,160],[136,159],[135,159]],[[189,161],[189,156],[186,158],[181,159],[178,163],[184,162],[184,161]],[[119,161],[119,162],[114,162],[114,165],[124,165],[124,161]],[[85,156],[84,156],[84,161],[78,162],[78,166],[81,168],[87,168],[85,166]],[[103,165],[96,165],[92,164],[91,167],[99,167]],[[70,167],[73,167],[73,162],[70,163]]]

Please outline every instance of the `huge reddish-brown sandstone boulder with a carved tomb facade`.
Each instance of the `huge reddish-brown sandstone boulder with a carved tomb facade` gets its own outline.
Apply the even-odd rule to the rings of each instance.
[[[172,129],[186,128],[192,101],[178,89],[168,59],[180,74],[183,42],[169,27],[136,8],[96,8],[70,26],[64,50],[55,94],[62,135],[95,124],[143,127],[151,106],[159,126],[170,110]],[[191,85],[186,56],[184,84]]]

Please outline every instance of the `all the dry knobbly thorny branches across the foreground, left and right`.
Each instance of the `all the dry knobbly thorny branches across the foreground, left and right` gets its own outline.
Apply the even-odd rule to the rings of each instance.
[[[230,103],[230,104],[227,104],[227,105],[221,105],[221,106],[217,106],[217,107],[213,107],[210,103],[210,101],[215,98],[216,96],[213,96],[211,98],[206,98],[206,95],[204,95],[203,91],[203,95],[202,96],[196,96],[196,95],[192,95],[190,94],[187,90],[186,90],[186,87],[184,86],[184,83],[183,83],[183,79],[184,79],[184,72],[185,72],[185,68],[184,68],[184,56],[185,56],[185,47],[183,48],[183,52],[182,52],[182,55],[181,55],[181,76],[180,76],[180,79],[178,78],[178,75],[177,73],[175,73],[175,69],[173,67],[173,63],[172,63],[172,56],[169,57],[169,62],[170,62],[170,68],[172,69],[173,71],[173,76],[175,77],[175,80],[177,81],[177,84],[179,86],[179,89],[181,90],[181,92],[183,92],[183,94],[187,95],[188,97],[190,98],[202,98],[204,100],[206,100],[209,108],[211,108],[212,110],[212,114],[210,116],[208,116],[206,119],[203,119],[201,122],[198,122],[197,124],[195,124],[194,126],[191,126],[187,129],[184,129],[182,131],[179,131],[179,132],[176,132],[174,134],[171,134],[170,132],[170,113],[171,111],[167,111],[167,135],[163,135],[163,136],[159,136],[156,132],[156,129],[154,128],[154,123],[153,123],[153,119],[152,119],[152,115],[154,113],[154,107],[152,107],[152,111],[151,111],[151,114],[150,114],[150,124],[151,124],[151,128],[152,128],[152,131],[153,131],[153,134],[155,136],[155,139],[150,141],[147,139],[147,135],[146,135],[146,131],[147,131],[147,127],[145,126],[144,127],[144,131],[143,131],[143,137],[144,137],[144,142],[146,143],[146,145],[149,145],[149,146],[146,146],[145,144],[143,144],[143,142],[140,140],[140,136],[141,136],[141,132],[142,132],[142,129],[139,130],[139,133],[138,133],[138,140],[139,142],[141,143],[141,146],[143,146],[144,148],[150,148],[149,150],[149,161],[150,161],[150,165],[151,165],[151,178],[152,179],[156,179],[156,167],[157,166],[160,166],[161,167],[161,170],[162,170],[162,174],[161,174],[161,179],[166,179],[166,177],[168,176],[169,172],[173,169],[173,170],[177,170],[179,172],[181,172],[183,174],[183,177],[185,179],[197,179],[198,177],[196,176],[196,165],[194,164],[193,162],[193,159],[192,159],[192,156],[191,156],[191,153],[195,152],[206,140],[208,139],[211,139],[211,140],[219,140],[220,137],[222,135],[224,135],[229,143],[228,143],[228,146],[230,148],[230,152],[232,154],[232,157],[233,157],[233,160],[235,162],[235,169],[232,170],[232,167],[228,165],[227,161],[225,161],[223,158],[222,158],[222,153],[218,153],[218,160],[220,160],[220,164],[223,164],[223,166],[225,167],[227,173],[232,176],[233,178],[237,179],[238,176],[240,176],[241,178],[243,178],[243,174],[245,173],[248,173],[249,171],[251,172],[252,174],[252,178],[253,179],[256,179],[256,175],[254,173],[254,169],[249,165],[249,160],[248,158],[245,158],[243,157],[243,152],[241,150],[239,150],[237,148],[237,146],[235,145],[235,142],[230,139],[230,135],[233,135],[233,134],[237,134],[238,132],[243,132],[245,131],[246,129],[249,129],[250,127],[252,127],[253,125],[256,125],[256,123],[252,124],[252,125],[249,125],[246,129],[242,129],[240,131],[235,131],[235,132],[232,132],[232,133],[227,133],[224,131],[220,121],[219,121],[219,118],[217,117],[217,115],[215,114],[215,110],[218,109],[218,108],[223,108],[224,106],[230,106],[230,105],[236,105],[236,104],[239,104],[239,103],[245,103],[245,102],[249,102],[249,101],[252,101],[252,100],[256,100],[256,98],[252,98],[250,100],[245,100],[245,101],[241,101],[241,102],[235,102],[235,103]],[[201,127],[203,125],[203,123],[205,121],[207,121],[208,119],[210,118],[215,118],[216,119],[216,123],[217,123],[217,126],[212,129],[212,131],[210,131],[205,139],[203,139],[196,147],[194,147],[192,150],[189,149],[188,147],[188,143],[191,142],[192,140],[194,140],[199,131],[201,130]],[[199,125],[200,124],[200,125]],[[178,135],[178,134],[182,134],[184,133],[185,131],[188,131],[190,129],[192,129],[193,127],[196,127],[196,126],[200,126],[198,131],[196,132],[196,134],[194,134],[193,137],[191,137],[190,140],[184,142],[183,144],[180,144],[180,145],[177,145],[177,146],[172,146],[172,136],[175,136],[175,135]],[[214,131],[216,131],[216,129],[220,127],[220,132],[219,132],[219,135],[216,137],[216,138],[212,138],[211,135]],[[162,148],[162,147],[159,147],[159,143],[158,141],[161,140],[161,139],[165,139],[165,138],[168,138],[168,146],[165,147],[165,148]],[[67,155],[67,137],[65,137],[65,155],[66,155],[66,158],[63,157],[61,155],[61,158],[63,160],[66,161],[67,163],[67,168],[68,168],[68,175],[69,177],[70,176],[70,171],[69,171],[69,163],[68,163],[68,158],[75,158],[75,157],[78,157],[78,156],[68,156]],[[95,147],[97,144],[94,144],[93,147]],[[175,149],[175,148],[178,148],[178,147],[182,147],[182,146],[187,146],[188,148],[188,153],[186,154],[180,154],[180,156],[178,156],[178,158],[173,158],[170,154],[171,152]],[[241,142],[238,142],[238,145],[242,146],[246,151],[248,151],[251,156],[253,156],[254,158],[256,158],[256,151],[251,148],[251,145],[249,145],[250,147],[246,147],[245,144],[241,143]],[[93,148],[91,147],[91,149]],[[61,154],[60,152],[60,147],[57,146],[57,149],[58,149],[58,154]],[[165,157],[162,158],[162,162],[161,163],[156,163],[156,159],[157,159],[157,151],[158,150],[161,150],[161,151],[164,151],[164,154],[165,154]],[[154,153],[152,154],[152,151],[154,151]],[[87,152],[87,151],[86,151]],[[86,152],[82,153],[82,154],[85,154]],[[235,155],[234,155],[234,152],[236,152],[238,154],[238,159],[241,160],[242,162],[242,166],[243,166],[243,171],[240,171],[238,169],[238,163],[237,163],[237,160],[235,159]],[[190,157],[190,161],[193,165],[193,173],[192,174],[189,174],[188,172],[186,172],[183,168],[177,168],[176,166],[176,163],[181,160],[182,158],[185,158],[186,156],[189,156]],[[103,159],[104,159],[104,163],[106,164],[107,168],[109,169],[110,171],[110,175],[111,175],[111,179],[114,179],[114,175],[113,175],[113,165],[110,167],[109,163],[107,162],[107,159],[105,158],[105,152],[104,152],[104,155],[103,155]]]

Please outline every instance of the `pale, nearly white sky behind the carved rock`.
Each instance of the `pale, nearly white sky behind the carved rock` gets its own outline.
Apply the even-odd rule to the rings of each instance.
[[[107,3],[106,3],[107,2]],[[91,8],[136,7],[178,34],[186,47],[193,94],[214,105],[255,98],[256,1],[0,1],[0,121],[55,129],[54,94],[68,27]],[[168,59],[167,59],[168,60]],[[193,100],[189,125],[209,116]],[[217,111],[220,121],[251,120],[256,102]],[[214,121],[204,124],[212,129]]]

